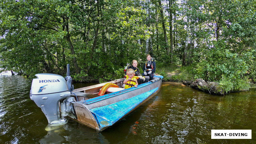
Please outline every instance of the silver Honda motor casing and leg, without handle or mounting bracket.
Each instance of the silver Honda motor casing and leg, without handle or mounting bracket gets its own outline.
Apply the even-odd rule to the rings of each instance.
[[[31,84],[30,99],[42,109],[48,123],[60,119],[59,102],[71,95],[64,77],[56,74],[36,74]]]

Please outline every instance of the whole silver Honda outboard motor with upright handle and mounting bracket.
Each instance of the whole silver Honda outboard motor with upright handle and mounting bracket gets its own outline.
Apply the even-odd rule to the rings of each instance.
[[[66,124],[67,119],[64,116],[69,115],[68,112],[74,114],[73,107],[70,106],[70,102],[75,101],[74,97],[70,97],[74,86],[70,77],[69,64],[67,67],[65,78],[56,74],[36,74],[37,78],[34,78],[31,84],[30,99],[42,109],[48,123],[51,124]]]

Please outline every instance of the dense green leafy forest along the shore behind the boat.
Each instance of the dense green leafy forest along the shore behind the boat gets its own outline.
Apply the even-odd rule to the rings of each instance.
[[[1,71],[26,77],[69,63],[76,81],[115,79],[150,54],[205,81],[256,79],[254,0],[2,0],[0,34]]]

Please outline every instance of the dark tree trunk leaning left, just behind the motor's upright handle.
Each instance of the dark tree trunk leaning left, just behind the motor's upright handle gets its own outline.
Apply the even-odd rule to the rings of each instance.
[[[73,63],[74,63],[74,66],[76,68],[76,74],[80,74],[80,68],[78,67],[77,62],[76,62],[76,54],[75,54],[75,51],[74,51],[74,47],[73,47],[73,44],[70,40],[69,29],[68,29],[68,17],[63,16],[62,18],[63,18],[63,23],[66,26],[66,32],[68,32],[67,36],[66,36],[66,39],[68,41],[71,54],[74,55]]]

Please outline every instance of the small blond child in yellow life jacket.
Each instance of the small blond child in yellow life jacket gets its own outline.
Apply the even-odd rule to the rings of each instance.
[[[137,87],[138,86],[138,81],[137,79],[139,78],[138,76],[135,76],[135,72],[132,68],[127,69],[126,71],[126,75],[125,75],[126,79],[124,80],[124,88],[128,89],[131,87]]]

